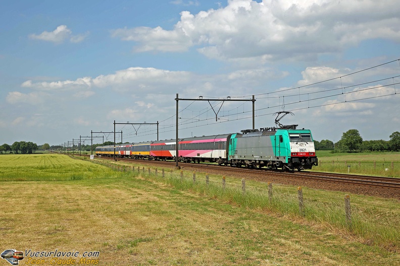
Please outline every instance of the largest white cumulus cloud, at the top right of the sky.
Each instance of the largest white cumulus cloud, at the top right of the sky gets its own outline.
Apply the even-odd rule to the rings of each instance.
[[[112,36],[135,41],[136,52],[197,47],[208,57],[224,60],[316,58],[367,39],[399,42],[398,10],[391,0],[229,0],[219,9],[181,12],[172,30],[125,27],[112,31]]]

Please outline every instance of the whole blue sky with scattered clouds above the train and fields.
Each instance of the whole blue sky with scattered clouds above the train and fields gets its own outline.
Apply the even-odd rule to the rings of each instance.
[[[389,140],[400,131],[399,13],[393,0],[2,1],[0,144],[60,145],[114,120],[159,121],[159,138],[173,139],[177,93],[255,95],[256,128],[285,110],[294,116],[281,122],[318,141],[353,128]],[[221,104],[180,101],[179,137],[252,127],[251,103]],[[157,139],[154,125],[137,127],[116,131]]]

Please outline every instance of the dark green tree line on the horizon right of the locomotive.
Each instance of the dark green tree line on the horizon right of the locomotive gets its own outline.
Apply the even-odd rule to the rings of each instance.
[[[384,152],[400,151],[400,132],[395,131],[389,141],[364,141],[357,129],[349,129],[343,133],[340,141],[314,141],[316,150],[333,150],[333,152]]]

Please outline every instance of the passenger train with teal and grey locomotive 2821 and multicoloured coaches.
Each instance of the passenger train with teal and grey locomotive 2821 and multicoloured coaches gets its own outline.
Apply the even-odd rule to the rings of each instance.
[[[279,120],[275,119],[279,124]],[[121,158],[215,162],[236,167],[304,170],[318,165],[311,130],[297,125],[242,130],[240,133],[115,146]],[[114,156],[114,145],[98,146],[97,156]]]

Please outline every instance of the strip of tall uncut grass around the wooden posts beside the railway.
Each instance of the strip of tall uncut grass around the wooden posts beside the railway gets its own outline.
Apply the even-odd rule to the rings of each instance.
[[[396,200],[352,195],[352,224],[349,226],[345,220],[344,193],[305,189],[305,210],[300,213],[297,190],[293,186],[274,185],[270,200],[267,184],[258,182],[247,182],[246,192],[243,193],[240,180],[235,178],[227,178],[224,189],[222,179],[217,181],[217,177],[212,177],[207,185],[205,177],[202,180],[197,175],[193,183],[191,172],[184,173],[184,178],[177,171],[162,178],[155,174],[155,169],[148,174],[148,168],[145,168],[141,170],[141,175],[182,191],[191,191],[236,206],[301,218],[310,223],[318,222],[342,234],[359,236],[366,243],[392,250],[400,246],[400,205]]]

